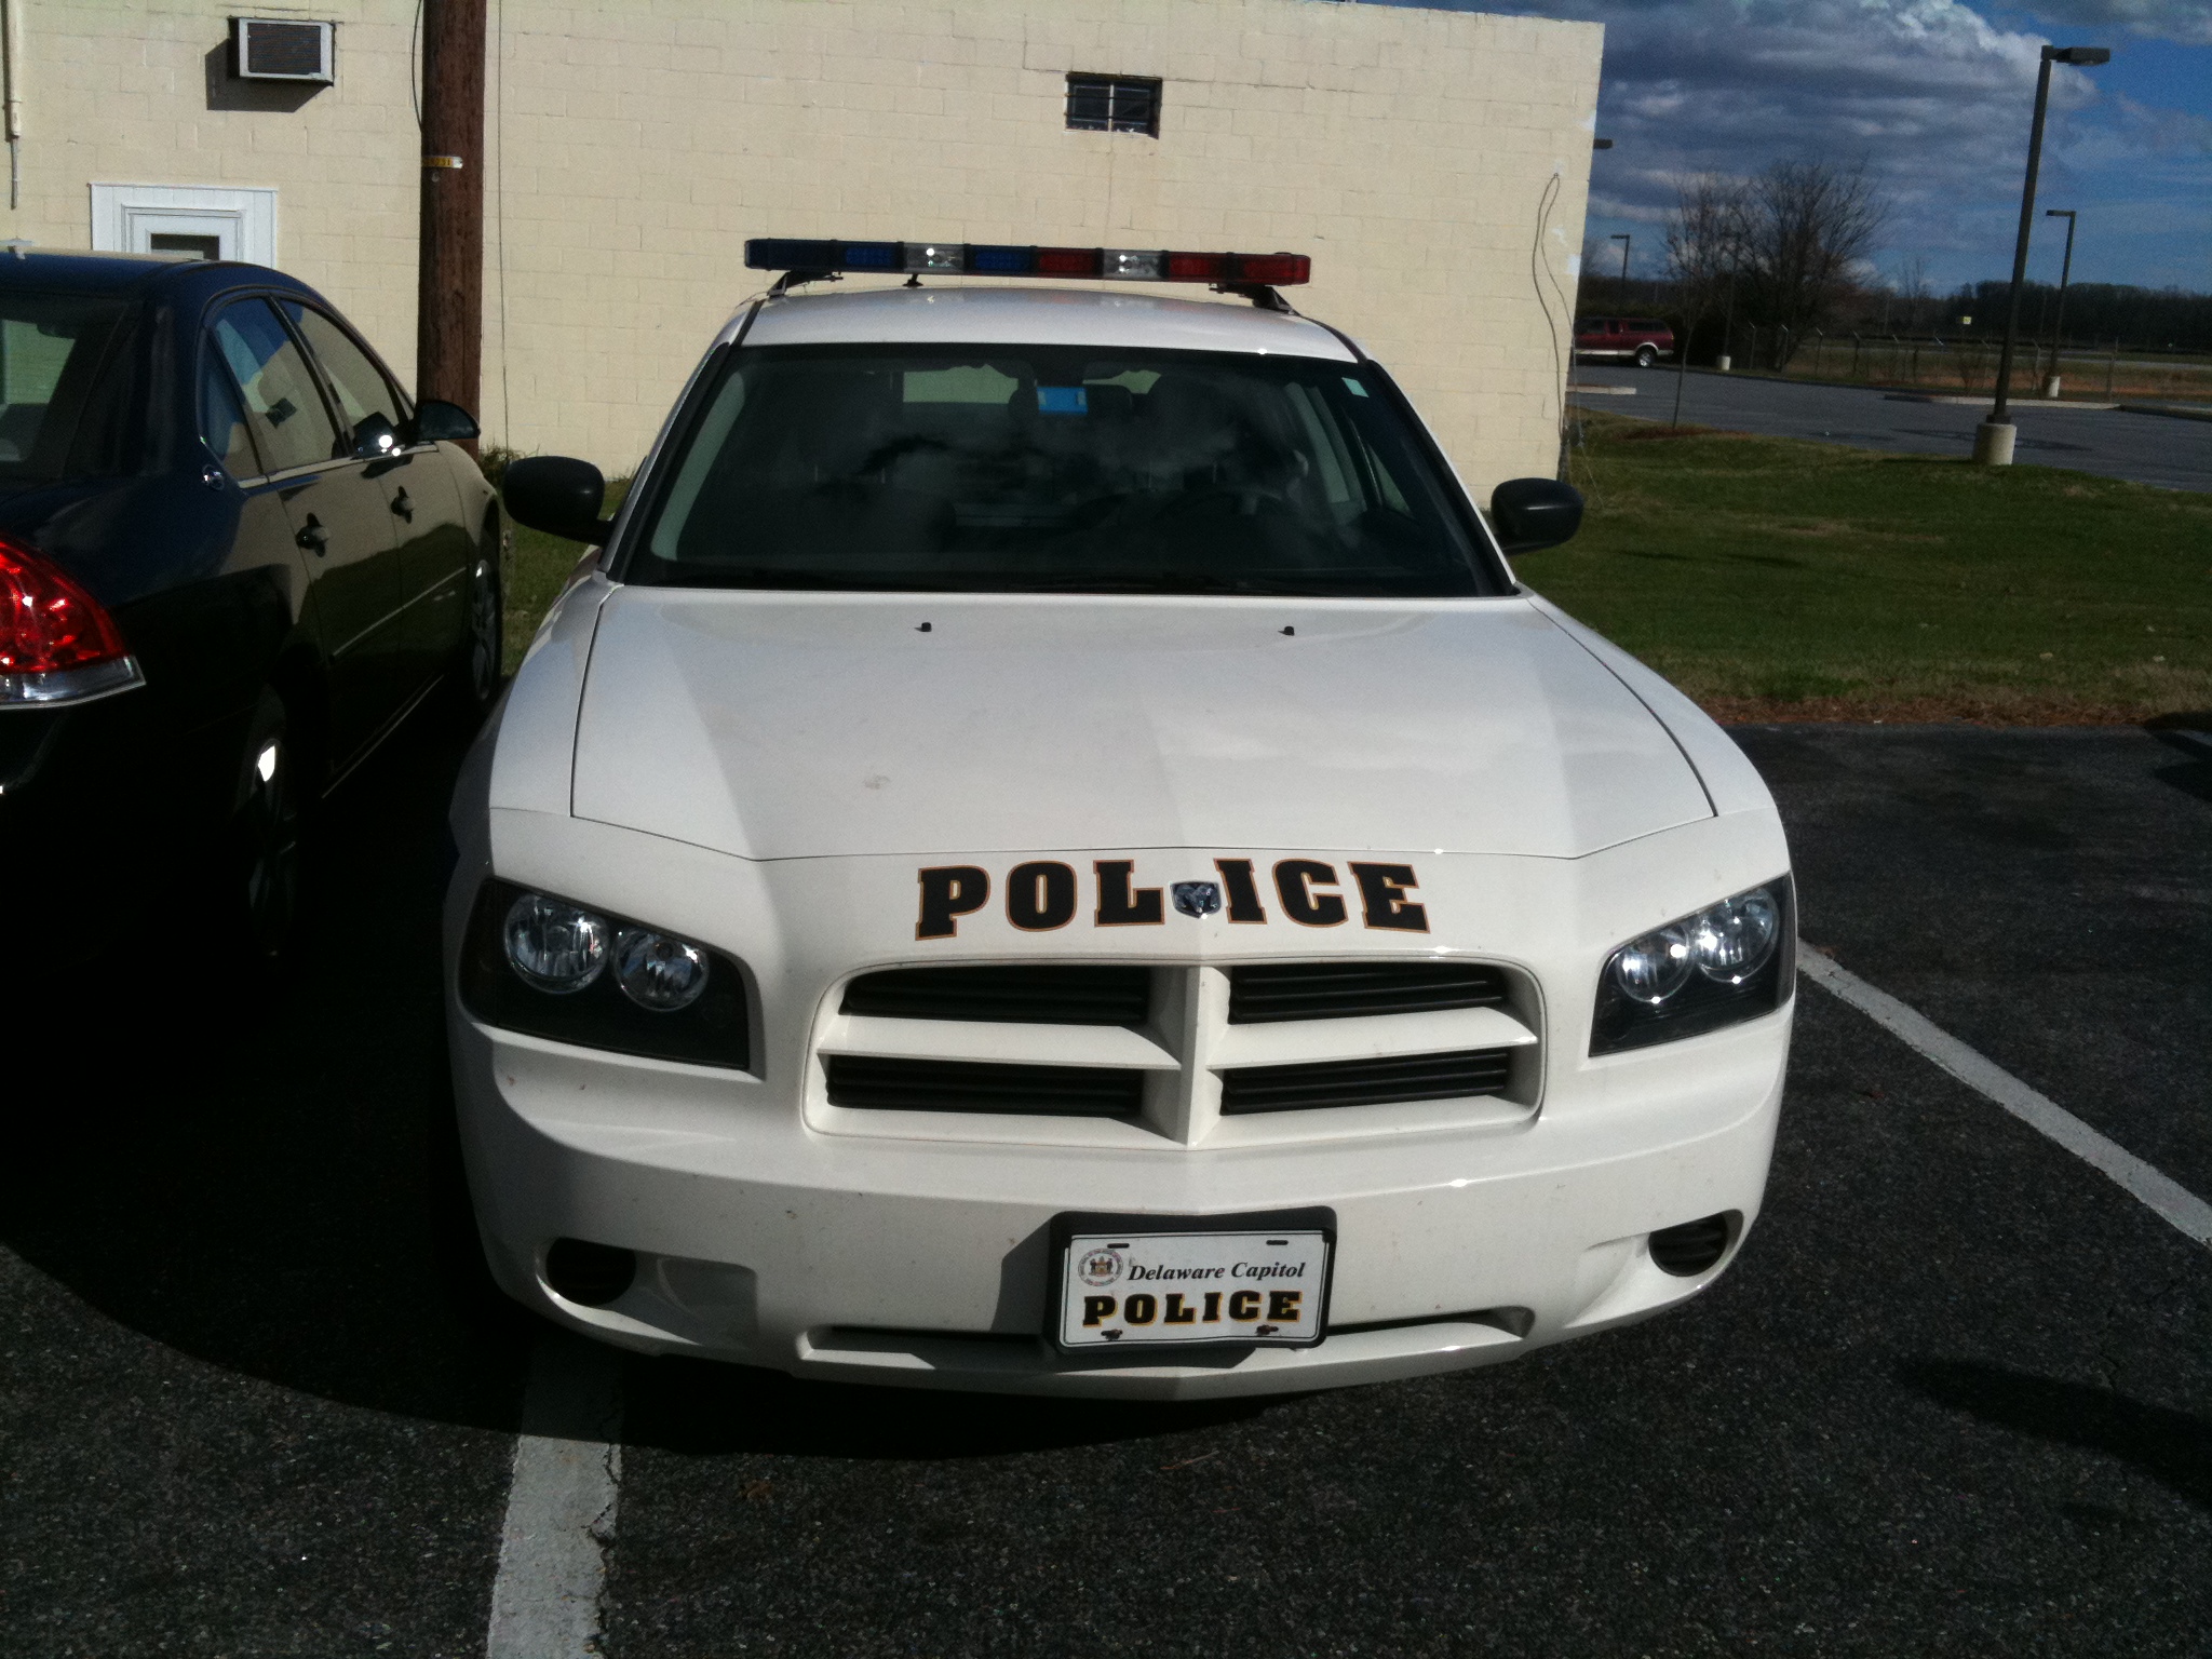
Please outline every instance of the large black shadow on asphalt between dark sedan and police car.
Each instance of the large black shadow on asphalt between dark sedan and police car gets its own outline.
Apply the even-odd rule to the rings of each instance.
[[[93,964],[11,1004],[0,1243],[210,1365],[416,1418],[509,1427],[522,1345],[434,1250],[451,1117],[438,969],[445,807],[467,750],[418,717],[319,814],[296,949],[241,962],[148,896]]]

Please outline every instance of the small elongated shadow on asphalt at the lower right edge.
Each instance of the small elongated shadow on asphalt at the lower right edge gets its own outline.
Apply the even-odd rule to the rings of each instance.
[[[1911,1360],[1898,1367],[1898,1380],[1936,1405],[2000,1429],[2104,1451],[2135,1464],[2185,1502],[2212,1511],[2212,1422],[2205,1418],[2143,1405],[2088,1383],[2062,1383],[1971,1360]]]

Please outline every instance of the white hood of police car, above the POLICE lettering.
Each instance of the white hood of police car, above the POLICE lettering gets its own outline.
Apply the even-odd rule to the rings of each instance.
[[[1522,599],[624,586],[573,812],[743,858],[1573,858],[1712,807],[1650,710]]]

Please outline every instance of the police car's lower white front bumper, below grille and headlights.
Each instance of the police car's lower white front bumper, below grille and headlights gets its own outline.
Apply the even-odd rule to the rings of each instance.
[[[1759,1214],[1790,1009],[1632,1057],[1613,1108],[1498,1130],[1192,1152],[876,1141],[730,1110],[690,1066],[489,1031],[456,1013],[465,1146],[509,1294],[648,1354],[858,1383],[1219,1398],[1422,1376],[1646,1318],[1712,1283]],[[1057,1354],[1062,1210],[1338,1217],[1329,1338],[1208,1363]],[[1650,1232],[1730,1214],[1708,1272]],[[639,1254],[606,1307],[555,1294],[555,1239]]]

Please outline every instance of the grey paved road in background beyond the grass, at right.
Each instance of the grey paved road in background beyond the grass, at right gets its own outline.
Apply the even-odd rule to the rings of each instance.
[[[1601,369],[1575,365],[1579,385],[1635,387],[1632,398],[1584,396],[1586,409],[1674,418],[1670,369]],[[1911,456],[1971,456],[1973,429],[1986,409],[1958,403],[1902,403],[1860,387],[1801,385],[1739,374],[1683,380],[1681,418],[1723,431],[1767,438],[1818,438],[1856,449]],[[2212,422],[2119,409],[2017,409],[2015,458],[2022,465],[2073,467],[2106,478],[2132,478],[2161,489],[2212,489]]]

